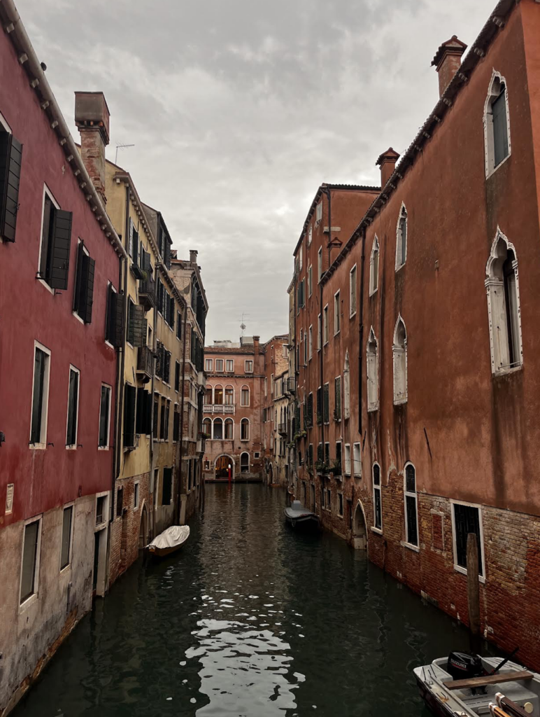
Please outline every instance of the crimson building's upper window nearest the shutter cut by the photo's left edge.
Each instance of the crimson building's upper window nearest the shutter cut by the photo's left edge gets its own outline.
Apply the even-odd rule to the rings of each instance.
[[[52,289],[67,290],[71,225],[72,213],[59,209],[44,191],[38,275]]]

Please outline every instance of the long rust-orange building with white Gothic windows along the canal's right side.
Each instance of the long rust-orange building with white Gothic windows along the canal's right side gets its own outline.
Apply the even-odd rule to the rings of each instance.
[[[476,533],[483,634],[536,668],[538,37],[540,6],[503,0],[461,64],[463,43],[440,46],[433,113],[397,166],[380,157],[382,191],[294,327],[302,356],[328,305],[296,362],[297,495],[466,623]]]

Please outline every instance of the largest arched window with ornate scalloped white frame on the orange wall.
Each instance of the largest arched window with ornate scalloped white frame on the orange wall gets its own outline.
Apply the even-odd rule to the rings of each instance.
[[[497,229],[486,266],[491,371],[498,374],[521,366],[521,309],[518,260],[514,244]]]

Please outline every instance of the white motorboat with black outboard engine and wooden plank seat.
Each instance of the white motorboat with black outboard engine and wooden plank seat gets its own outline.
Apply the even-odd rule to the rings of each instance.
[[[540,717],[540,675],[510,658],[450,652],[413,672],[438,717]]]

